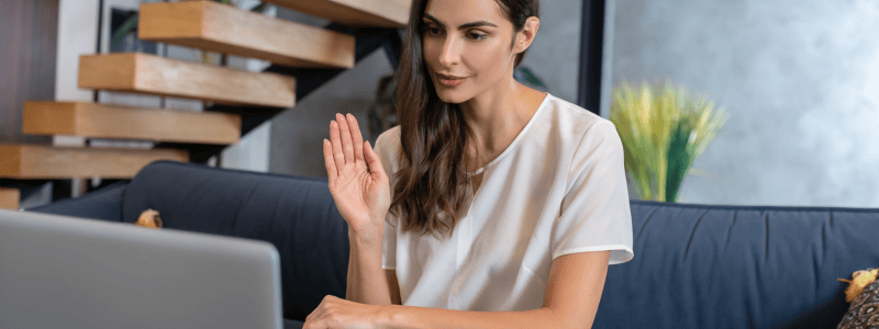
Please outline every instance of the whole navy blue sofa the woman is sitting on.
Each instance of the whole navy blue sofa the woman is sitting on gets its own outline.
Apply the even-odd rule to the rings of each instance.
[[[635,259],[593,328],[835,328],[852,272],[879,266],[879,209],[632,201]],[[253,238],[281,256],[286,328],[345,296],[347,225],[325,179],[158,161],[130,183],[29,211]]]

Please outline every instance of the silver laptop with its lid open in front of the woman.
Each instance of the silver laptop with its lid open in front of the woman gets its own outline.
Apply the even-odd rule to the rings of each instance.
[[[0,209],[0,328],[281,328],[271,243]]]

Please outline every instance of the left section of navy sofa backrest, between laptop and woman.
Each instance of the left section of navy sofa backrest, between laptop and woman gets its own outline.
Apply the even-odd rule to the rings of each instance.
[[[153,208],[164,227],[271,242],[286,318],[304,320],[325,295],[345,297],[348,227],[325,179],[157,161],[131,181],[121,208],[125,223]]]

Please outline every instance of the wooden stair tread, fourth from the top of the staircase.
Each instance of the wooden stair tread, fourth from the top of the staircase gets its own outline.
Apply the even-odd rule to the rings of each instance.
[[[232,145],[241,139],[241,116],[89,102],[29,101],[24,103],[22,133]]]

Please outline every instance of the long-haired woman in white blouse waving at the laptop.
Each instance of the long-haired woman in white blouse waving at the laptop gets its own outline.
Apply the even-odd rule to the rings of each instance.
[[[608,265],[633,257],[622,143],[610,121],[513,80],[538,12],[413,1],[400,125],[374,150],[337,114],[324,140],[347,296],[304,328],[591,327]]]

